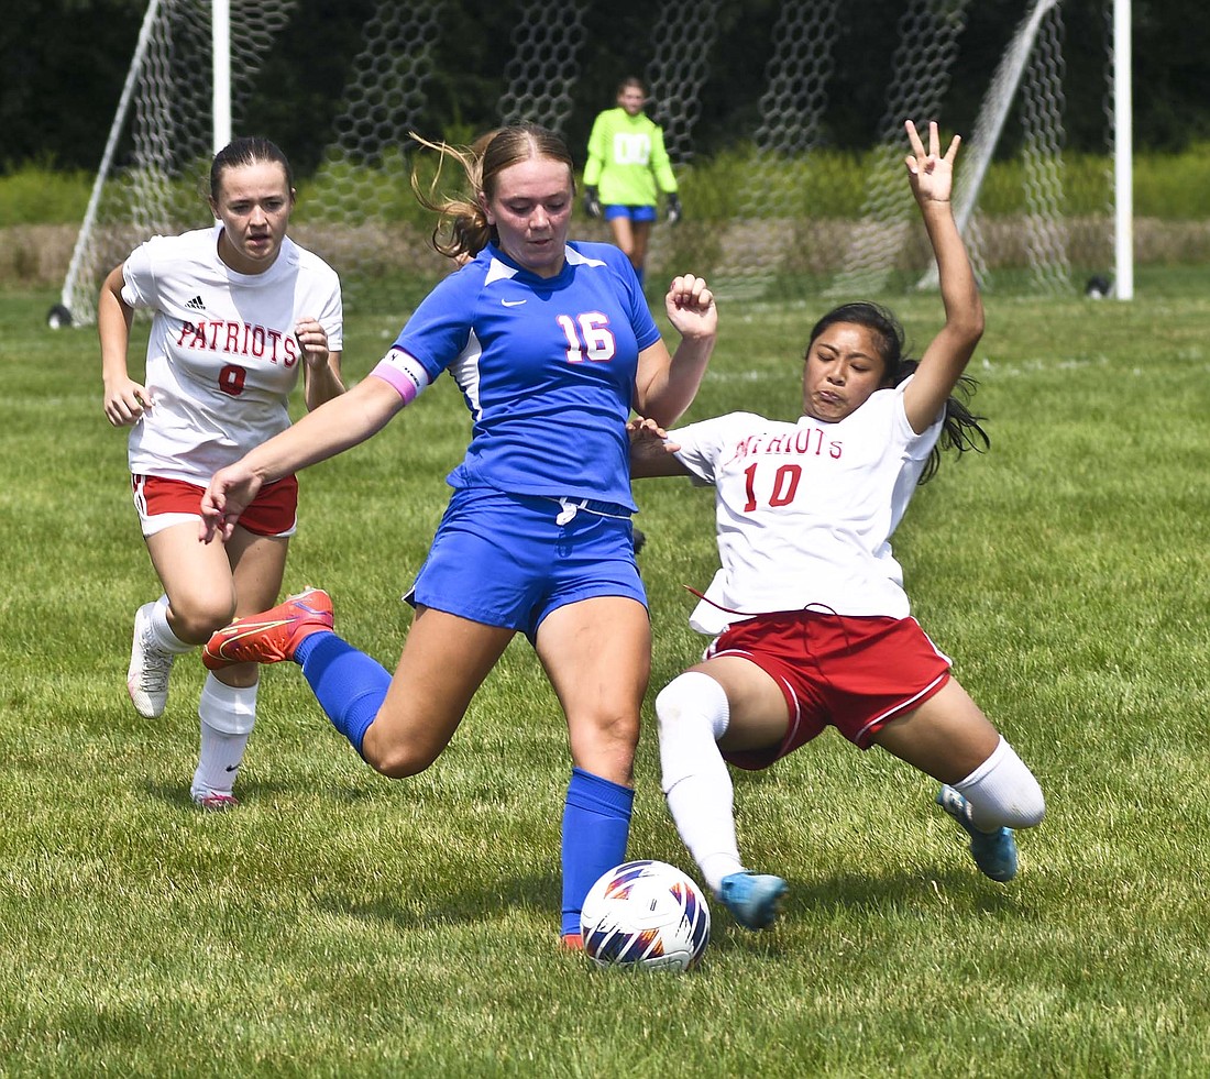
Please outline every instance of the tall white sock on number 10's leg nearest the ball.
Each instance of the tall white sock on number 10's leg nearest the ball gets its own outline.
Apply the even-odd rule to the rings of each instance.
[[[716,745],[727,731],[727,694],[709,675],[688,671],[656,698],[661,787],[681,841],[718,894],[744,869],[736,844],[734,790]]]

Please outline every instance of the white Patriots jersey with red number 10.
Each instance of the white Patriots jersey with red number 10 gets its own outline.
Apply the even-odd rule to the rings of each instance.
[[[707,596],[718,606],[699,604],[695,629],[718,634],[741,616],[805,607],[909,614],[888,541],[944,414],[916,434],[906,385],[878,391],[839,423],[731,412],[669,433],[678,458],[715,487],[722,569]]]

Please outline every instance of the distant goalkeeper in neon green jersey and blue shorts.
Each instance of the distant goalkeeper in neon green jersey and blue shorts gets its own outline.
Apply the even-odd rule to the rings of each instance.
[[[647,91],[641,79],[623,79],[617,108],[593,121],[584,166],[584,209],[604,217],[616,243],[644,283],[647,240],[656,220],[658,196],[667,201],[668,224],[680,220],[680,196],[664,149],[664,133],[644,111]]]

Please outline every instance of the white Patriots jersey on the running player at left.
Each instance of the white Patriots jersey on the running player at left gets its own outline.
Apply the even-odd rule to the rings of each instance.
[[[218,254],[221,225],[156,236],[122,266],[122,299],[155,311],[144,383],[151,408],[131,432],[131,472],[207,483],[289,426],[302,350],[294,327],[315,317],[341,340],[340,281],[288,237],[264,273]]]

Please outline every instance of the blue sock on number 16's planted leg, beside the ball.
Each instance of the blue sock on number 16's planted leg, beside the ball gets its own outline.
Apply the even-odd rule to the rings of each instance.
[[[580,933],[588,889],[606,870],[626,861],[634,791],[571,769],[563,808],[563,933]]]

